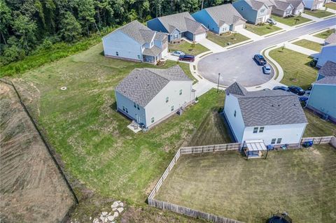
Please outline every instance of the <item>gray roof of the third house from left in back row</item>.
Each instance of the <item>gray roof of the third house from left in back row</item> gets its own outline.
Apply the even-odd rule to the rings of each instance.
[[[221,6],[214,6],[210,8],[204,8],[207,13],[212,17],[212,19],[221,26],[222,24],[234,24],[238,20],[244,20],[243,17],[238,13],[232,4],[223,4]],[[246,20],[244,20],[246,21]]]

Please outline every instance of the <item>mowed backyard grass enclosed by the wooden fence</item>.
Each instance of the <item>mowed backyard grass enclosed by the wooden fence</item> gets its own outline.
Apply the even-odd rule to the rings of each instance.
[[[246,161],[237,151],[183,155],[155,199],[242,222],[286,211],[293,222],[336,222],[336,150],[314,145]]]

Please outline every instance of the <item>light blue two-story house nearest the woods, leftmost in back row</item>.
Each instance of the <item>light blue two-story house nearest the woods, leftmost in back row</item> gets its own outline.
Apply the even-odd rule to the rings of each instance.
[[[104,55],[156,64],[167,55],[167,34],[148,29],[137,20],[102,38]]]

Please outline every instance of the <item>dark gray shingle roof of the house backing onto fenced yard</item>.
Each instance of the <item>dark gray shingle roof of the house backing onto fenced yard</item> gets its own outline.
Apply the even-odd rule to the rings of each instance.
[[[231,87],[232,85],[235,86]],[[238,99],[245,127],[307,123],[297,95],[281,90],[247,92],[245,88],[241,89],[242,86],[237,82],[232,85],[231,89],[228,89]],[[232,89],[236,89],[237,86],[237,93],[243,94],[233,93],[235,91]]]

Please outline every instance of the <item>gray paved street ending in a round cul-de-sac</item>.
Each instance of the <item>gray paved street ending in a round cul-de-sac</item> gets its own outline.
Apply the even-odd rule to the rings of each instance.
[[[293,38],[310,34],[311,32],[332,27],[336,17],[321,22],[314,22],[303,27],[269,36],[260,41],[254,41],[237,48],[206,56],[197,64],[198,73],[207,80],[217,83],[218,73],[221,73],[220,84],[228,86],[238,81],[246,87],[261,85],[269,81],[272,75],[262,73],[262,67],[255,64],[253,55],[272,45],[290,41]]]

